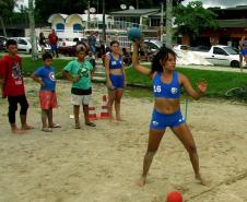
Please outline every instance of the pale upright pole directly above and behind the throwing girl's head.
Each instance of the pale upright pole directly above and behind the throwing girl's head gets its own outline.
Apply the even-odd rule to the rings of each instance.
[[[173,40],[173,31],[172,31],[172,17],[173,17],[173,0],[166,0],[166,47],[172,48],[172,40]]]

